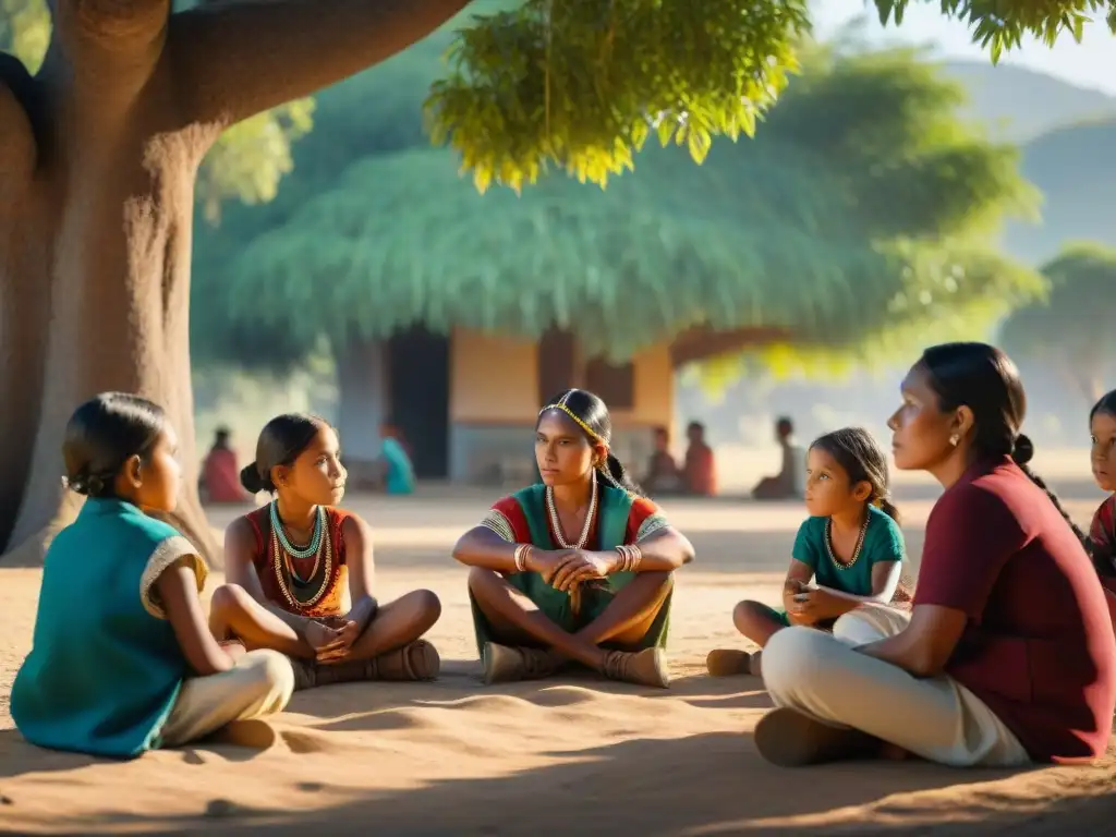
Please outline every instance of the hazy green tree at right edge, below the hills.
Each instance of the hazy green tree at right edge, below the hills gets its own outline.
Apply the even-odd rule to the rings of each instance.
[[[1000,339],[1011,355],[1050,366],[1093,404],[1105,392],[1105,373],[1116,356],[1105,302],[1116,291],[1116,249],[1071,244],[1042,272],[1050,281],[1049,298],[1014,311]]]

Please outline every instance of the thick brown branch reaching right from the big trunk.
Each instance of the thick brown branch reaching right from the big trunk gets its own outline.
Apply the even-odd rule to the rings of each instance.
[[[469,0],[229,0],[171,17],[184,115],[232,125],[379,64]]]

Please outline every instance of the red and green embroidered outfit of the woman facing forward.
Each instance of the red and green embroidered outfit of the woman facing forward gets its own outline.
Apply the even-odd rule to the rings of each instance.
[[[546,489],[540,484],[531,485],[498,501],[481,525],[509,543],[531,543],[539,549],[557,549],[555,532],[547,514]],[[665,526],[667,526],[666,518],[651,500],[632,497],[626,491],[603,485],[599,488],[597,512],[590,525],[585,548],[607,551],[620,543],[636,543]],[[614,573],[596,584],[583,585],[580,606],[576,610],[569,594],[556,590],[538,573],[516,573],[508,577],[508,583],[530,598],[555,624],[567,632],[575,632],[597,618],[616,593],[635,576],[635,573]],[[500,638],[494,635],[472,594],[470,603],[477,633],[477,648],[479,653],[483,653],[485,642],[499,643]],[[666,645],[670,610],[668,595],[639,648]],[[605,647],[613,646],[606,643]]]

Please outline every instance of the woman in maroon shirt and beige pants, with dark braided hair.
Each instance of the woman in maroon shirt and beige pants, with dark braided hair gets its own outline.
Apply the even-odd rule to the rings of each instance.
[[[945,489],[926,523],[911,614],[866,606],[829,636],[776,634],[763,679],[779,709],[761,754],[857,754],[953,766],[1100,757],[1116,709],[1116,637],[1097,574],[1028,468],[1014,364],[980,343],[934,346],[891,417],[895,464]]]

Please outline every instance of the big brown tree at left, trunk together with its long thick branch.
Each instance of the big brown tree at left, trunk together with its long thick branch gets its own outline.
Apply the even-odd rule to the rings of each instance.
[[[35,78],[0,54],[0,546],[41,558],[76,510],[60,445],[98,392],[158,402],[185,485],[174,522],[215,557],[196,489],[190,246],[198,166],[229,125],[425,37],[465,0],[51,0]],[[12,555],[15,548],[16,555]]]

